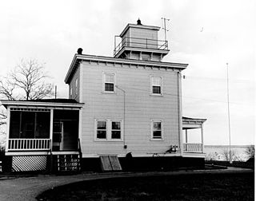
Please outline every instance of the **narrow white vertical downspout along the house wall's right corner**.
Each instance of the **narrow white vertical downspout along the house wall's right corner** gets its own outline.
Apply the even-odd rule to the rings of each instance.
[[[181,77],[180,72],[178,74],[178,132],[179,132],[179,146],[181,149],[181,156],[183,156],[183,139],[182,139],[182,87],[181,87]]]

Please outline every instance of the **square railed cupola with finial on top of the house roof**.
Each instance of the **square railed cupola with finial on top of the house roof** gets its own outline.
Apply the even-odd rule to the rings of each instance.
[[[169,53],[168,42],[158,40],[158,26],[142,25],[138,18],[137,24],[128,24],[122,33],[121,42],[115,45],[114,57],[138,59],[146,61],[162,61]]]

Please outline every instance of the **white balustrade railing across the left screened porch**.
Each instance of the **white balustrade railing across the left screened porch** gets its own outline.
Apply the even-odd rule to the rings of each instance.
[[[8,150],[10,151],[50,150],[50,139],[9,139]]]

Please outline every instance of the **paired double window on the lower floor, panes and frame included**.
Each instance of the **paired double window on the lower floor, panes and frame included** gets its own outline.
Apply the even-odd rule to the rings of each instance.
[[[95,120],[97,141],[122,141],[122,120]]]

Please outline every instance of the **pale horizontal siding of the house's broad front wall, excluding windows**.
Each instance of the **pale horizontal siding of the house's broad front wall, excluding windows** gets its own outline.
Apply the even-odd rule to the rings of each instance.
[[[170,145],[179,144],[178,133],[178,76],[171,69],[151,69],[128,65],[83,63],[82,100],[82,153],[143,155],[162,153]],[[123,120],[123,93],[102,93],[102,73],[116,73],[116,85],[126,91],[125,144],[123,142],[98,142],[94,140],[95,119]],[[150,95],[150,76],[162,77],[162,97]],[[162,141],[150,140],[151,120],[163,121]],[[179,147],[178,147],[179,148]]]

